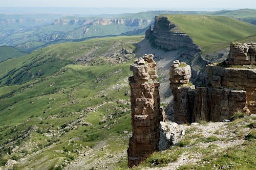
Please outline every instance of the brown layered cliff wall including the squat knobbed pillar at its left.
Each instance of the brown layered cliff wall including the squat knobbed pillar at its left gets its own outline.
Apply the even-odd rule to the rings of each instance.
[[[255,89],[255,86],[249,83],[250,81],[256,82],[255,79],[252,79],[253,74],[245,75],[240,71],[228,74],[223,72],[221,68],[207,65],[208,87],[195,88],[189,84],[190,67],[185,64],[178,64],[179,62],[175,61],[170,67],[170,87],[174,95],[174,121],[176,123],[184,124],[199,122],[200,120],[220,122],[223,119],[230,119],[236,111],[248,112],[247,98],[251,95],[247,94],[253,95],[255,92],[236,89],[234,84],[242,83],[241,79],[238,79],[242,76],[245,77],[243,83],[246,84],[247,82],[248,86]],[[225,68],[223,69],[225,70]],[[232,81],[231,79],[226,79],[227,82],[224,81],[225,76],[232,77]],[[248,76],[250,77],[249,80],[247,79]],[[224,82],[228,83],[228,81],[230,81],[230,88],[226,88],[227,86],[223,84]],[[248,103],[252,102],[248,101]]]

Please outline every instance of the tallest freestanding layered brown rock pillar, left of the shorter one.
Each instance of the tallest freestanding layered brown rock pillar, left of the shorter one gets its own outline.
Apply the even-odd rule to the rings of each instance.
[[[160,109],[159,82],[153,55],[137,59],[130,69],[133,136],[130,138],[128,166],[141,163],[158,150],[159,126],[163,119]]]

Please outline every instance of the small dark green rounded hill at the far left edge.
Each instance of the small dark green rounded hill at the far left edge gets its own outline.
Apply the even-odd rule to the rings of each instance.
[[[9,58],[18,58],[27,55],[11,46],[0,46],[0,62]]]

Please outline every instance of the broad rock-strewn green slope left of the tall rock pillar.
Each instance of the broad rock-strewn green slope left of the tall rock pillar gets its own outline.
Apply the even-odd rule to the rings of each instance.
[[[0,63],[9,66],[18,63],[15,66],[19,67],[18,74],[31,63],[41,63],[40,68],[48,70],[39,78],[20,77],[23,79],[20,85],[0,87],[0,145],[3,147],[0,148],[0,166],[7,159],[26,158],[16,168],[54,168],[65,160],[73,161],[78,156],[77,150],[94,150],[102,141],[110,149],[108,152],[122,153],[127,147],[123,142],[128,142],[123,131],[132,128],[130,106],[116,101],[130,100],[125,93],[129,89],[127,77],[131,75],[129,67],[134,59],[110,65],[104,60],[108,53],[101,56],[122,47],[133,51],[135,43],[142,39],[143,36],[111,37],[52,45],[22,57],[23,60],[17,58]],[[92,60],[88,66],[69,64],[89,52],[97,62]],[[62,68],[55,65],[55,69],[49,70],[56,64],[53,60],[56,58],[66,65],[61,65]],[[3,67],[0,69],[2,72]],[[33,69],[30,70],[33,72]],[[92,125],[81,126],[78,119]],[[68,127],[65,128],[65,124]],[[11,151],[16,146],[19,149]],[[63,152],[56,153],[60,150]],[[94,153],[102,154],[96,150]],[[98,159],[97,155],[94,160]],[[116,163],[125,167],[126,158]]]

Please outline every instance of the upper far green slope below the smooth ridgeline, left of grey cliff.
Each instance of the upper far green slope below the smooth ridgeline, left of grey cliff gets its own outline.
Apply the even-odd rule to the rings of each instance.
[[[31,80],[32,77],[38,77],[37,72],[39,70],[40,76],[49,76],[61,67],[75,63],[74,60],[89,52],[91,54],[89,57],[96,60],[94,57],[108,52],[113,45],[115,46],[115,43],[119,43],[119,40],[119,45],[124,45],[129,49],[130,45],[127,45],[125,41],[135,42],[142,38],[143,36],[124,36],[50,45],[17,60],[7,60],[0,63],[0,84],[21,83]]]

